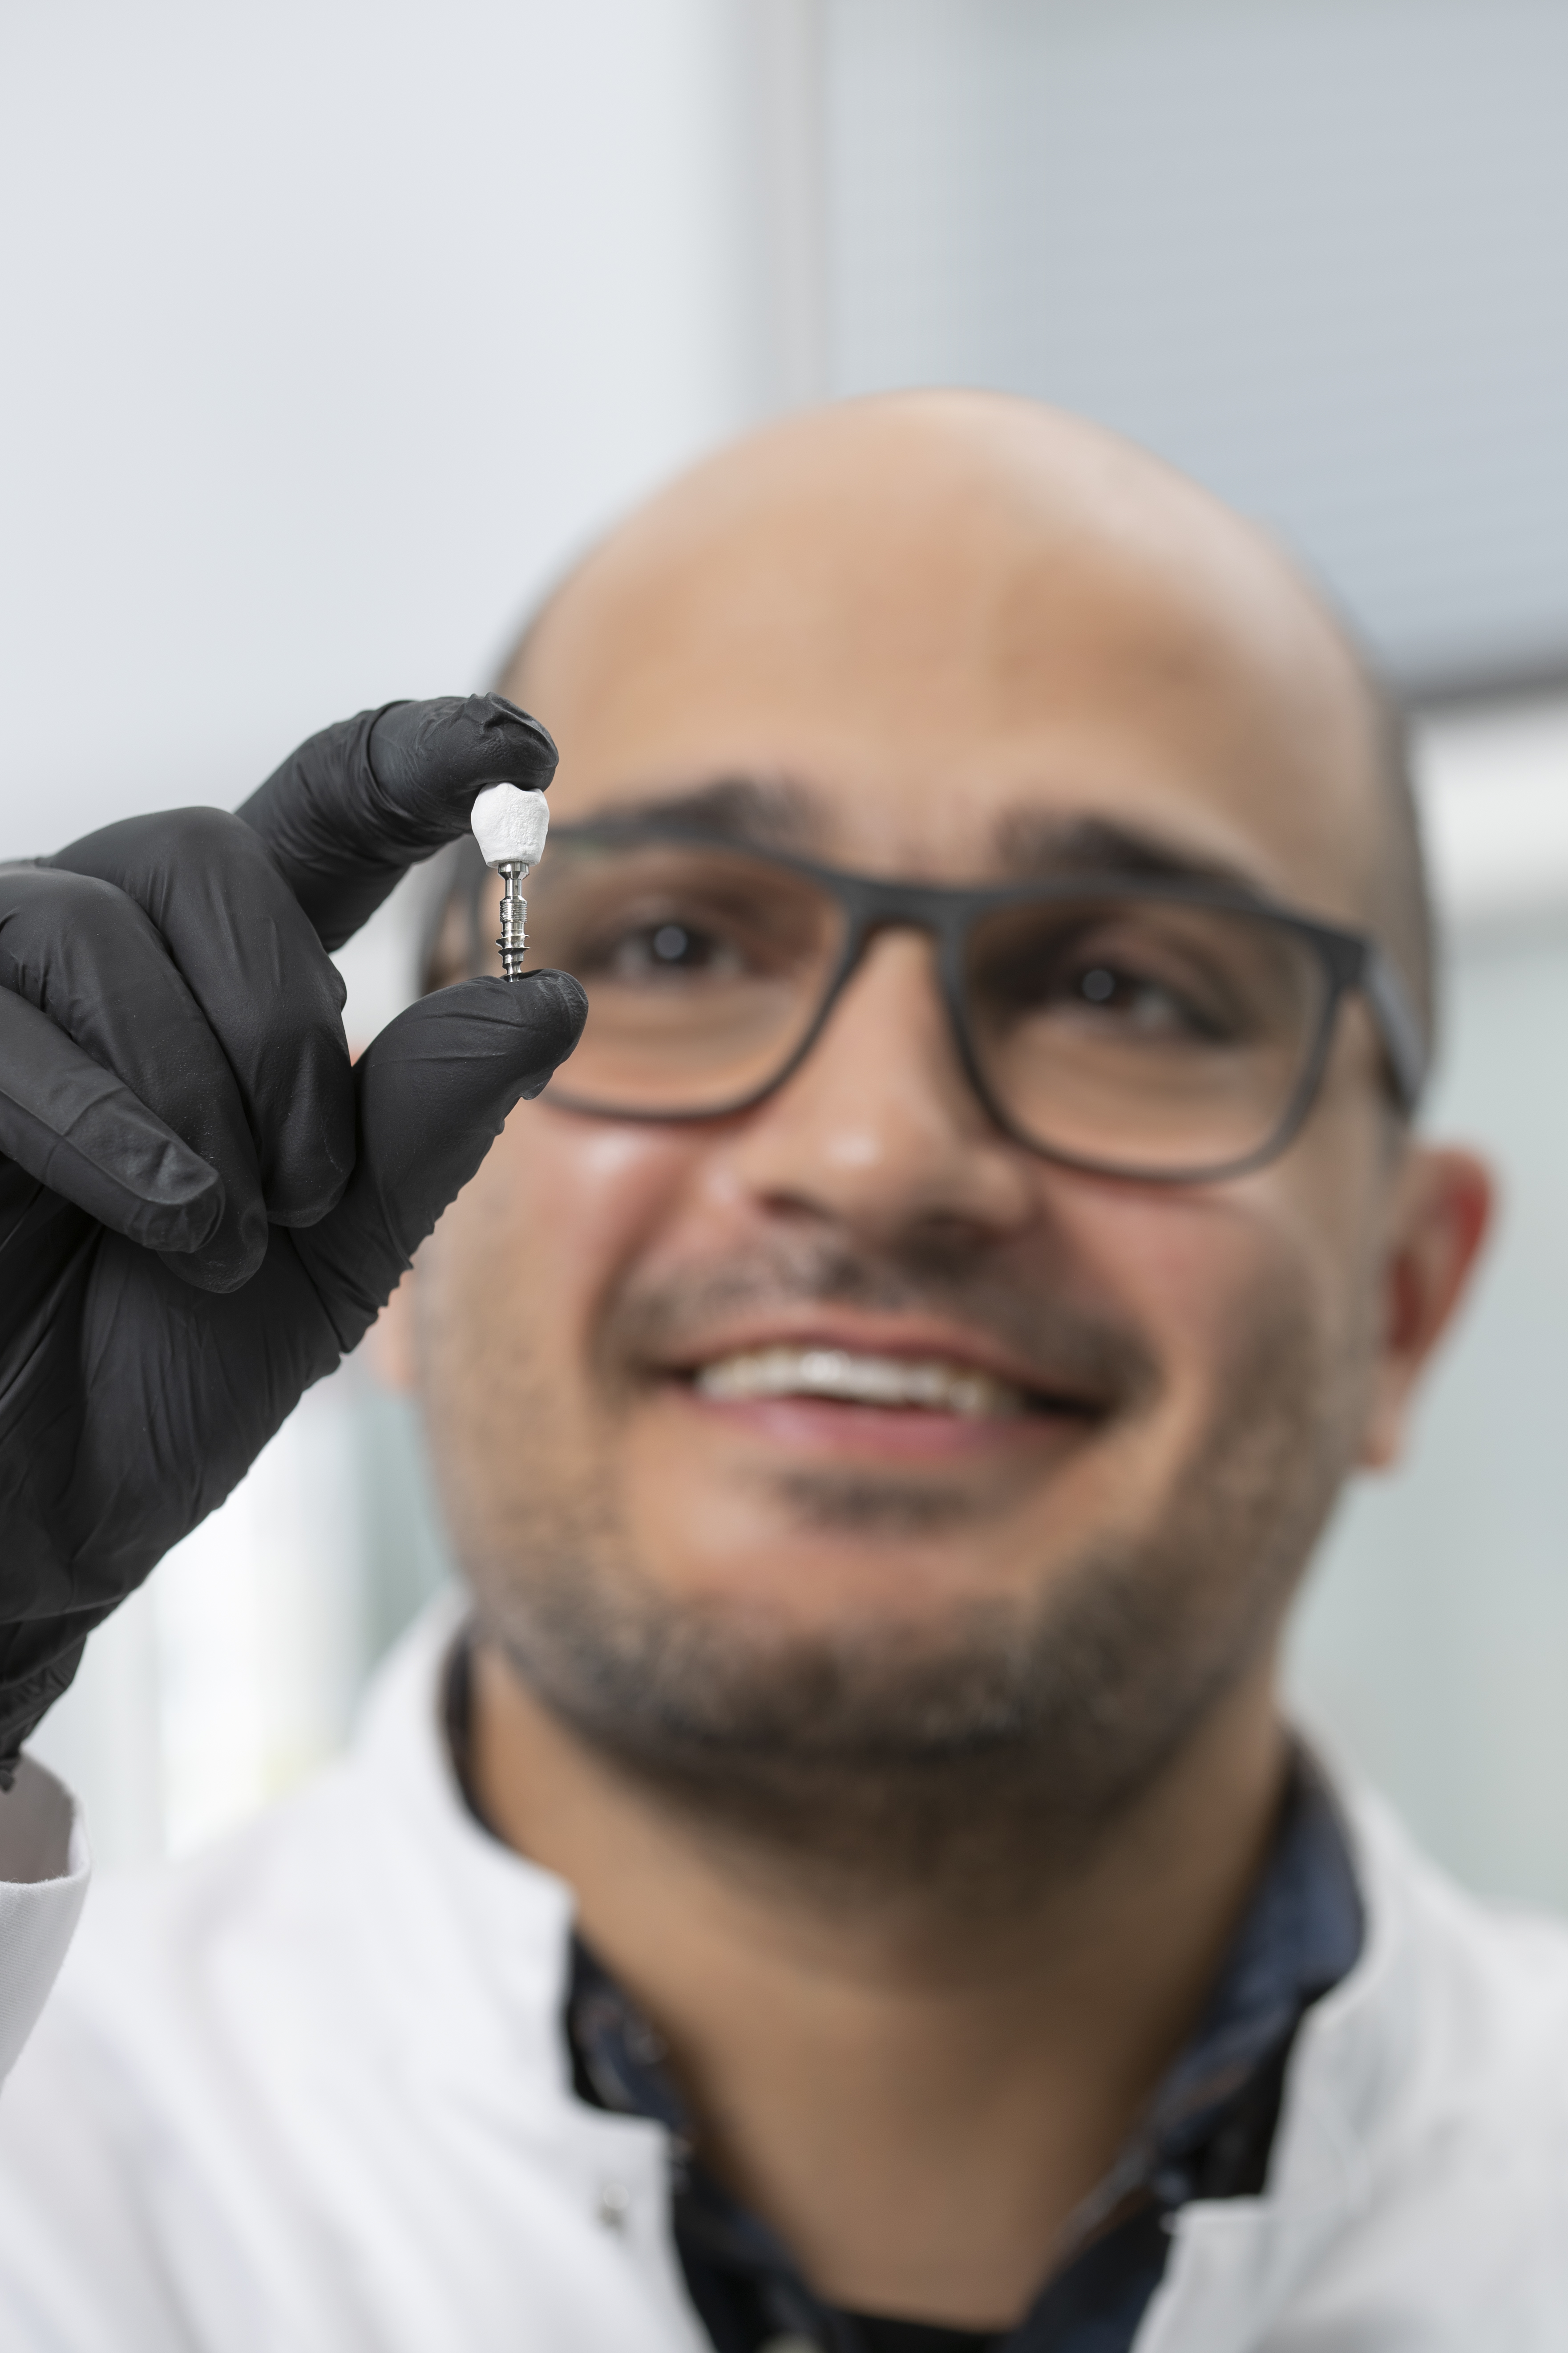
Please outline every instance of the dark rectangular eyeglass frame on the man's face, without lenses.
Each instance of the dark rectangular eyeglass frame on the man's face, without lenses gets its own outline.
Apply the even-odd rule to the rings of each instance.
[[[646,1106],[623,1108],[616,1104],[574,1099],[569,1085],[557,1080],[550,1087],[550,1101],[562,1111],[581,1111],[604,1120],[639,1120],[661,1127],[689,1125],[693,1120],[726,1120],[741,1111],[752,1111],[757,1104],[766,1101],[769,1094],[776,1094],[783,1085],[788,1085],[788,1080],[799,1071],[827,1028],[832,1009],[863,962],[870,941],[877,932],[893,929],[926,932],[936,944],[936,967],[952,1042],[964,1066],[964,1075],[987,1115],[997,1122],[1001,1134],[1023,1144],[1025,1151],[1037,1153],[1037,1158],[1051,1160],[1060,1167],[1084,1169],[1095,1176],[1126,1176],[1138,1184],[1215,1184],[1225,1176],[1244,1176],[1248,1169],[1276,1160],[1279,1153],[1295,1141],[1307,1113],[1312,1111],[1312,1101],[1328,1064],[1340,1005],[1352,991],[1361,993],[1373,1016],[1378,1042],[1382,1045],[1387,1064],[1389,1087],[1406,1118],[1413,1115],[1427,1078],[1427,1040],[1422,1035],[1422,1024],[1387,951],[1368,932],[1352,932],[1335,922],[1321,922],[1316,915],[1302,915],[1298,908],[1265,899],[1258,892],[1237,889],[1222,882],[1180,880],[1171,875],[1126,875],[1112,871],[1072,873],[1060,878],[1041,875],[1030,882],[997,882],[964,889],[947,882],[910,882],[849,873],[839,866],[818,866],[813,859],[792,856],[783,849],[762,849],[755,842],[736,840],[724,831],[686,826],[670,819],[611,819],[597,826],[557,826],[552,840],[555,845],[604,842],[607,847],[672,842],[689,849],[715,849],[729,856],[743,856],[757,866],[773,866],[780,873],[799,875],[806,882],[813,882],[839,906],[844,915],[844,946],[827,976],[820,1005],[795,1049],[762,1087],[750,1087],[733,1101],[710,1104],[701,1111],[649,1111]],[[475,875],[475,939],[480,929],[477,882],[480,875]],[[985,915],[994,915],[1004,908],[1063,906],[1079,899],[1145,899],[1164,906],[1218,908],[1232,915],[1251,915],[1253,920],[1279,925],[1281,932],[1295,934],[1312,948],[1326,981],[1316,1038],[1302,1059],[1302,1075],[1298,1078],[1274,1132],[1255,1151],[1237,1160],[1175,1172],[1088,1160],[1077,1153],[1039,1144],[1032,1134],[1027,1134],[1027,1129],[1018,1127],[1018,1122],[1009,1118],[1004,1104],[997,1101],[971,1035],[964,986],[969,934]]]

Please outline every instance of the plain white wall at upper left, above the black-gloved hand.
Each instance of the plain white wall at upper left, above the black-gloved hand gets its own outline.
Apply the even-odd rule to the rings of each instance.
[[[0,842],[487,682],[769,400],[726,0],[0,19]]]

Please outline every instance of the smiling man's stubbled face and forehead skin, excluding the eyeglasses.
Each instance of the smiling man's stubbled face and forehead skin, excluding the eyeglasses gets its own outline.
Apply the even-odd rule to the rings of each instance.
[[[1366,920],[1363,715],[1262,560],[907,433],[755,464],[538,633],[557,824],[750,776],[835,866],[983,882],[1020,828],[1112,821]],[[1394,1160],[1352,1005],[1269,1167],[1056,1167],[973,1096],[914,932],[745,1113],[520,1108],[416,1287],[487,1624],[651,1769],[1011,1748],[1103,1809],[1267,1652],[1359,1452]],[[994,1409],[708,1393],[759,1348],[985,1374]]]

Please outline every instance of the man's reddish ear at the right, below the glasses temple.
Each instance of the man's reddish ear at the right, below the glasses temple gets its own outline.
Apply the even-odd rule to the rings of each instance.
[[[1399,1461],[1415,1384],[1465,1297],[1493,1200],[1490,1169],[1474,1153],[1408,1146],[1382,1259],[1382,1332],[1361,1433],[1368,1471]]]

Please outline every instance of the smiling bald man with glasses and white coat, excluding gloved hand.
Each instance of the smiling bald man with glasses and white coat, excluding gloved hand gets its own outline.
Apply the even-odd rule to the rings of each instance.
[[[1408,1127],[1340,631],[1107,435],[926,395],[698,468],[508,694],[590,1019],[388,1327],[468,1602],[89,1913],[7,2341],[1561,2346],[1568,1941],[1274,1689],[1488,1205]]]

